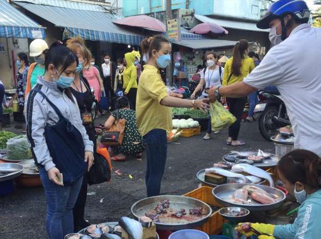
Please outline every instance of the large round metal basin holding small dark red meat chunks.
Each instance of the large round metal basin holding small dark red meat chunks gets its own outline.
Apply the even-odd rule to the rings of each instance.
[[[200,200],[176,195],[162,195],[144,198],[134,203],[131,206],[131,213],[138,219],[145,216],[145,213],[155,213],[158,203],[161,203],[165,199],[170,201],[169,208],[167,208],[166,214],[159,214],[159,222],[154,222],[158,230],[170,230],[177,231],[182,229],[191,229],[202,226],[212,213],[209,205]],[[205,215],[190,215],[189,209],[195,207],[202,207]],[[171,216],[176,210],[180,208],[185,209],[186,215],[181,218]]]

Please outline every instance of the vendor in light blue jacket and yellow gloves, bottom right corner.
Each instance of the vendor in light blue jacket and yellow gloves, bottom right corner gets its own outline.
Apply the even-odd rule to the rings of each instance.
[[[293,224],[271,225],[251,223],[251,227],[260,233],[259,239],[321,238],[321,158],[315,153],[297,149],[284,155],[278,163],[279,177],[289,194],[300,203],[298,217]],[[242,223],[235,228],[246,236],[252,231],[244,231]]]

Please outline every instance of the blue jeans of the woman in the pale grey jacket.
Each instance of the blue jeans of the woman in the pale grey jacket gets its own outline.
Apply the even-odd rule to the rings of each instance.
[[[48,178],[44,168],[39,168],[40,178],[46,194],[46,230],[49,239],[62,239],[73,232],[72,208],[76,203],[83,177],[70,186],[60,186]]]

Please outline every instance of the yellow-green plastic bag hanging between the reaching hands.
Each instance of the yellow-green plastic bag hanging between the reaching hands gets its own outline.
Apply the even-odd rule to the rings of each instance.
[[[210,103],[209,115],[211,118],[211,125],[213,131],[227,128],[236,121],[234,115],[232,115],[228,110],[226,110],[224,106],[218,101]]]

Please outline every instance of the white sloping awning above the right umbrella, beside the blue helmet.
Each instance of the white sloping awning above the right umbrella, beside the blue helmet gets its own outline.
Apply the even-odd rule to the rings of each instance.
[[[202,22],[216,23],[220,26],[223,26],[223,28],[232,28],[232,29],[248,30],[248,31],[255,31],[255,32],[269,32],[269,30],[257,28],[256,23],[253,23],[253,22],[211,18],[211,17],[197,15],[197,14],[195,14],[195,17]]]

